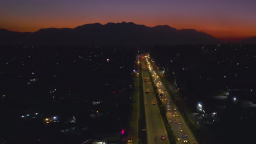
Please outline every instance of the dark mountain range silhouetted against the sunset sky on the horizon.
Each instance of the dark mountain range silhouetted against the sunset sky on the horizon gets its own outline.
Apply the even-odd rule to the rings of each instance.
[[[147,27],[133,22],[91,23],[75,28],[44,28],[34,33],[0,29],[0,43],[173,45],[217,44],[221,41],[195,29],[177,30],[170,26]]]

